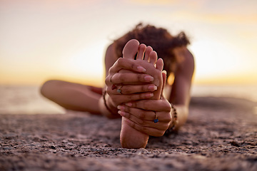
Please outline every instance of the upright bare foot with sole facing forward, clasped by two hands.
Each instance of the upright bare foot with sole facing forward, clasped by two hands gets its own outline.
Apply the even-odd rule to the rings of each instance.
[[[137,56],[136,56],[137,53]],[[162,88],[162,74],[161,71],[163,69],[162,60],[157,61],[157,53],[153,51],[153,48],[150,46],[146,47],[146,45],[141,44],[135,39],[129,41],[124,46],[123,57],[130,58],[134,60],[134,56],[136,56],[136,63],[138,65],[146,68],[146,73],[150,76],[153,76],[153,84],[157,86],[157,90],[153,92],[153,97],[151,99],[160,99],[161,97],[161,88]],[[122,71],[127,72],[127,71]],[[153,123],[154,124],[154,123]],[[145,133],[141,133],[134,128],[131,128],[124,117],[121,120],[121,146],[126,148],[141,148],[146,147],[149,136]]]

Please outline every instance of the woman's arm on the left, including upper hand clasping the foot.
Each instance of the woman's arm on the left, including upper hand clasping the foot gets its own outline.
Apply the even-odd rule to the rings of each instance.
[[[127,58],[118,58],[114,53],[113,45],[109,46],[106,51],[106,85],[104,86],[103,96],[99,100],[99,108],[103,115],[107,118],[117,118],[117,105],[126,103],[131,100],[140,100],[151,98],[153,83],[148,78],[151,77],[144,74],[144,69],[139,61],[129,60]],[[121,69],[132,71],[131,73],[119,72]],[[137,85],[128,85],[131,83],[141,83]],[[111,88],[113,85],[122,85],[122,95],[117,93],[116,89]]]

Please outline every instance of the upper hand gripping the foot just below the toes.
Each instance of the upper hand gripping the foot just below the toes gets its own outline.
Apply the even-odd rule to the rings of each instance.
[[[120,72],[121,70],[131,72]],[[145,72],[146,69],[137,61],[119,58],[109,69],[109,76],[105,80],[111,105],[116,108],[122,103],[153,97],[152,92],[157,87],[151,83],[153,77]]]

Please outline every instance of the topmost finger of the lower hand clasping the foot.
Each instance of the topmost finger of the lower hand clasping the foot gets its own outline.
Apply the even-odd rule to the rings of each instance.
[[[168,100],[163,98],[162,100],[137,100],[126,103],[129,107],[132,108],[141,108],[143,110],[153,110],[153,111],[171,111],[171,104],[168,103]]]

